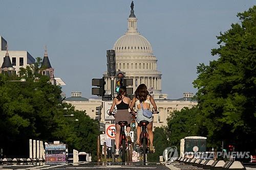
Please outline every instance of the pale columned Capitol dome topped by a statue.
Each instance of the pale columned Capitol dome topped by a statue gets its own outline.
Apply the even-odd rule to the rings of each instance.
[[[167,99],[167,94],[162,94],[162,74],[157,70],[157,58],[153,54],[150,42],[137,30],[137,18],[134,14],[134,5],[128,28],[114,44],[116,52],[116,69],[124,71],[125,78],[133,79],[133,91],[138,85],[144,83],[155,99]],[[103,76],[107,74],[104,72]],[[106,94],[111,93],[111,78],[105,78]]]

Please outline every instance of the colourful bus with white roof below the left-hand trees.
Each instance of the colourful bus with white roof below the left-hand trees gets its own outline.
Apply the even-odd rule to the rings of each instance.
[[[66,163],[66,144],[54,141],[45,146],[46,163]]]

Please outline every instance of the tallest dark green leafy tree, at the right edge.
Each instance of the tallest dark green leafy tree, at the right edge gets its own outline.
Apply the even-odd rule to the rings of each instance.
[[[218,36],[218,59],[198,66],[198,106],[208,141],[236,150],[255,149],[256,137],[256,6],[238,13],[240,23]]]

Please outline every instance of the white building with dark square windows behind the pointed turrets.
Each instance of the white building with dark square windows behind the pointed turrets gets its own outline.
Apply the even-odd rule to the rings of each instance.
[[[20,67],[26,68],[27,65],[33,65],[35,63],[35,59],[27,51],[8,50],[7,41],[0,36],[0,66],[3,65],[6,54],[9,54],[12,67],[15,68],[16,72],[19,71]]]

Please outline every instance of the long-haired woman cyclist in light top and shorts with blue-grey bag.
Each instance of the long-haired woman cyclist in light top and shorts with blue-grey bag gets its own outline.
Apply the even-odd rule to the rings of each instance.
[[[137,143],[136,145],[140,145],[140,134],[141,134],[141,127],[139,126],[139,123],[141,120],[147,120],[149,124],[146,126],[147,128],[147,133],[150,138],[150,151],[155,152],[154,146],[153,146],[153,119],[147,118],[142,114],[142,108],[141,104],[143,106],[143,109],[150,109],[150,104],[153,105],[155,112],[157,112],[157,105],[153,99],[153,97],[148,93],[146,85],[145,84],[140,84],[136,91],[135,91],[135,96],[132,100],[132,103],[130,105],[130,109],[133,110],[133,106],[135,104],[135,107],[137,108],[137,118],[136,121],[138,123],[137,127]]]

